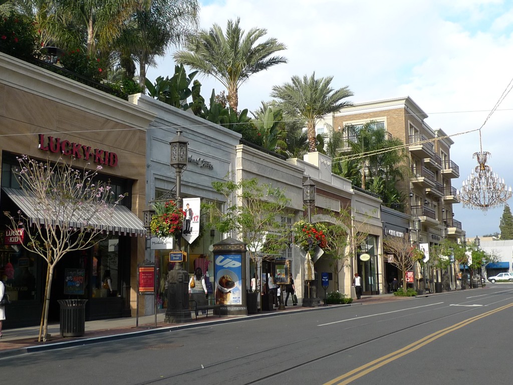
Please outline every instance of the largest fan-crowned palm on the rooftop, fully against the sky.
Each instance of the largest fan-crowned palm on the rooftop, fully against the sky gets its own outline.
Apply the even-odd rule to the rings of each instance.
[[[287,63],[283,56],[271,56],[274,52],[286,49],[275,38],[263,43],[257,41],[267,34],[263,28],[251,28],[246,34],[240,27],[240,18],[228,20],[226,35],[221,27],[214,24],[210,30],[200,30],[191,38],[186,50],[176,51],[174,60],[192,69],[213,76],[228,90],[230,107],[239,107],[239,87],[249,77],[280,63]]]

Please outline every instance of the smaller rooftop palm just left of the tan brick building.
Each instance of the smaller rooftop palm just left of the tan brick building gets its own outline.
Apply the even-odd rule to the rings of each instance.
[[[306,121],[308,132],[308,151],[317,151],[315,125],[327,114],[352,105],[342,101],[353,93],[348,86],[333,90],[330,87],[333,76],[315,79],[315,72],[310,77],[301,79],[292,76],[291,83],[272,87],[271,97],[278,98],[283,110],[291,116],[300,116]]]

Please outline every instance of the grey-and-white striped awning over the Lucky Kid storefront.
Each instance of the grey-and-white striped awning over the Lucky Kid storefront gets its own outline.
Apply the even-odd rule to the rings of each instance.
[[[35,198],[25,194],[23,190],[2,187],[7,196],[30,218],[32,222],[42,223],[42,218],[37,217]],[[72,224],[74,227],[81,227],[80,221]],[[120,235],[146,235],[143,222],[137,218],[127,207],[116,205],[108,223],[94,223],[100,225],[106,232]]]

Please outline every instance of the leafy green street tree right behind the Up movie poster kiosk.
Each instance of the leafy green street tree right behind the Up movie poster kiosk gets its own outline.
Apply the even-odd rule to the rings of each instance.
[[[213,213],[211,225],[220,233],[233,234],[246,243],[257,277],[261,277],[262,262],[281,254],[287,247],[282,218],[286,217],[285,208],[290,201],[285,191],[261,184],[257,178],[233,182],[227,177],[212,182],[212,187],[225,198],[227,207],[223,210],[215,204],[207,205]]]

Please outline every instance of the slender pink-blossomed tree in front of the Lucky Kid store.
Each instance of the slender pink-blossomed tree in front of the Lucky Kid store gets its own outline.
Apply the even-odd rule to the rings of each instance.
[[[4,214],[11,220],[11,230],[23,228],[28,241],[22,246],[48,264],[38,338],[46,341],[55,265],[68,253],[85,250],[105,238],[105,223],[123,196],[113,196],[108,183],[98,182],[101,166],[94,171],[76,170],[61,160],[52,164],[27,156],[18,162],[14,174],[31,212]]]

